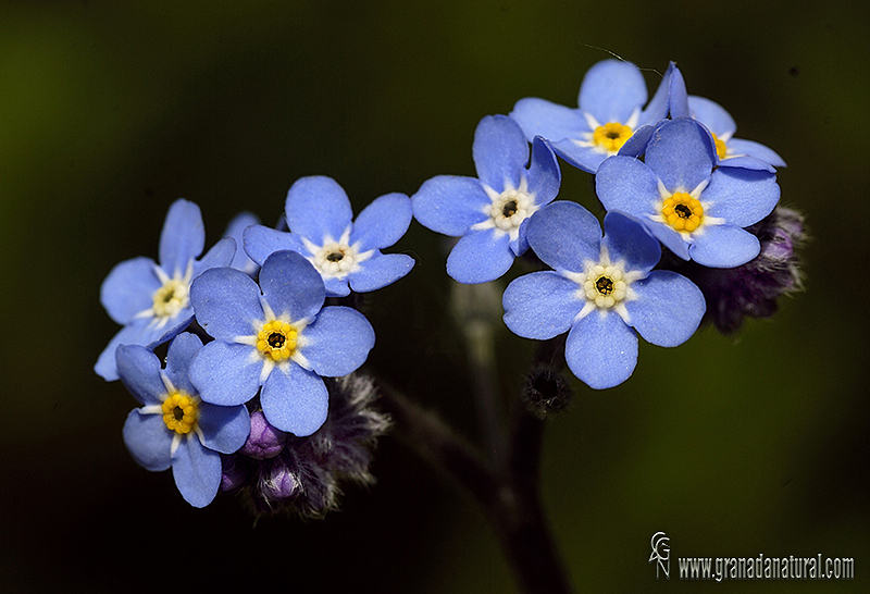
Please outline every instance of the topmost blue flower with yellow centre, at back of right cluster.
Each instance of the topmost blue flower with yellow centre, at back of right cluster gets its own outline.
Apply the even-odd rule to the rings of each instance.
[[[598,165],[617,154],[626,140],[648,124],[668,115],[671,86],[679,76],[671,62],[652,100],[647,99],[641,70],[631,62],[605,60],[586,72],[580,86],[579,109],[526,98],[517,102],[510,116],[531,141],[543,136],[566,161],[595,173]],[[684,89],[684,87],[683,87]]]

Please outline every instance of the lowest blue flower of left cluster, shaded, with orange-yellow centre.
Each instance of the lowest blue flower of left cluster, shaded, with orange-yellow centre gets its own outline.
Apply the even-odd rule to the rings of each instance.
[[[172,467],[175,485],[195,507],[211,503],[221,484],[221,455],[240,448],[250,431],[244,406],[214,406],[200,400],[190,384],[190,362],[202,348],[184,333],[170,345],[166,369],[157,355],[138,345],[117,349],[121,381],[144,406],[124,423],[124,443],[148,470]]]

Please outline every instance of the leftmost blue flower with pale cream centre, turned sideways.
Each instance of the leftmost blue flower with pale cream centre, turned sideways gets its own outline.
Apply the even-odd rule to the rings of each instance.
[[[108,381],[117,380],[119,345],[154,348],[190,324],[190,282],[203,270],[227,265],[236,249],[233,239],[224,238],[196,260],[204,246],[199,207],[176,200],[160,235],[160,265],[150,258],[134,258],[112,269],[100,287],[100,302],[109,317],[124,327],[100,354],[94,371]]]

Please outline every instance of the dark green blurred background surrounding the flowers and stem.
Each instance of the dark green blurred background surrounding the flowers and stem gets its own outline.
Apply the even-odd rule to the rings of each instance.
[[[807,215],[807,289],[736,338],[641,346],[634,376],[548,428],[544,499],[584,592],[867,591],[867,3],[0,0],[0,592],[190,584],[322,592],[512,592],[484,516],[393,438],[378,483],[323,522],[195,510],[121,441],[135,401],[92,372],[116,331],[111,268],[157,256],[185,197],[209,243],[239,210],[272,223],[325,174],[357,210],[473,174],[477,121],[523,97],[575,104],[606,48],[652,87],[675,60],[738,136],[788,162]],[[563,166],[562,198],[593,206]],[[442,244],[412,225],[413,273],[370,300],[389,376],[474,437]],[[498,330],[504,385],[532,345]],[[865,386],[865,387],[861,387]],[[672,556],[854,557],[855,582],[656,581]],[[675,564],[672,564],[674,566]]]

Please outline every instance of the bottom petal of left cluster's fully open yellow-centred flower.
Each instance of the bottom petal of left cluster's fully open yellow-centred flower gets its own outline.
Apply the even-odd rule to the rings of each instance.
[[[326,421],[330,394],[320,375],[290,363],[288,373],[276,369],[269,375],[260,404],[273,426],[306,437]]]

